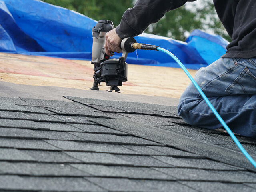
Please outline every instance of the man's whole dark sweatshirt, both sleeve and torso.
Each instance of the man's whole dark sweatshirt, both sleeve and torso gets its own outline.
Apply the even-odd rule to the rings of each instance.
[[[141,34],[151,23],[158,22],[170,10],[194,0],[138,0],[126,10],[116,33],[120,38]],[[220,21],[232,42],[222,57],[256,56],[256,0],[213,0]],[[171,27],[171,26],[170,26]]]

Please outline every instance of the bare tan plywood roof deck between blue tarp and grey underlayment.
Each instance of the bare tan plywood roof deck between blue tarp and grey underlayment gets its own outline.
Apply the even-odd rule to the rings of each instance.
[[[189,70],[194,76],[196,70]],[[89,61],[0,53],[0,80],[15,84],[90,90],[93,65]],[[128,65],[123,94],[179,98],[190,80],[180,68]],[[109,90],[101,84],[100,90]]]

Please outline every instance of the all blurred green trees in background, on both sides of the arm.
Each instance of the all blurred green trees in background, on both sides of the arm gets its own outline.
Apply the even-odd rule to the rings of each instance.
[[[124,11],[131,8],[136,2],[136,0],[112,0],[111,2],[109,0],[43,1],[80,12],[94,20],[112,20],[115,26],[120,23]],[[151,24],[145,32],[184,41],[194,29],[218,34],[231,41],[218,19],[212,0],[188,2],[185,6],[167,12],[159,22]]]

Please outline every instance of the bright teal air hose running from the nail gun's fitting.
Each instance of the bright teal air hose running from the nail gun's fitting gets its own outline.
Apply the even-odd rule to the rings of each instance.
[[[178,60],[178,58],[172,54],[171,52],[169,52],[166,49],[160,48],[160,47],[156,47],[156,50],[162,51],[166,54],[168,54],[169,56],[171,56],[178,64],[179,66],[182,68],[182,70],[186,73],[186,75],[188,76],[188,78],[190,78],[191,82],[194,84],[194,86],[196,87],[196,89],[199,91],[200,95],[202,96],[202,98],[204,98],[204,100],[206,101],[206,103],[208,104],[208,106],[210,107],[210,109],[212,110],[212,112],[214,113],[214,115],[217,117],[217,119],[220,121],[220,123],[222,124],[222,126],[226,129],[226,131],[228,132],[228,134],[231,136],[231,138],[234,140],[234,142],[236,143],[236,145],[238,146],[238,148],[242,151],[242,153],[244,154],[244,156],[251,162],[251,164],[256,168],[256,162],[253,160],[253,158],[248,154],[248,152],[244,149],[244,147],[241,145],[241,143],[238,141],[238,139],[236,138],[236,136],[234,136],[233,132],[230,130],[230,128],[227,126],[227,124],[224,122],[224,120],[220,117],[220,115],[218,114],[218,112],[215,110],[215,108],[212,106],[212,104],[210,103],[210,101],[208,100],[208,98],[206,97],[206,95],[204,94],[204,92],[200,89],[200,87],[198,86],[198,84],[196,83],[196,81],[192,78],[192,76],[190,75],[190,73],[188,72],[188,70],[184,67],[184,65],[182,64],[182,62],[180,62],[180,60]]]

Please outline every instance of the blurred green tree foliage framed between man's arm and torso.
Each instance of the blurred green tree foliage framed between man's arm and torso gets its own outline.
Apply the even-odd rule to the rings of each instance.
[[[200,3],[200,6],[196,6],[196,3]],[[212,0],[187,2],[184,6],[167,12],[156,24],[151,24],[146,32],[184,41],[194,29],[218,34],[231,41],[217,16]]]

